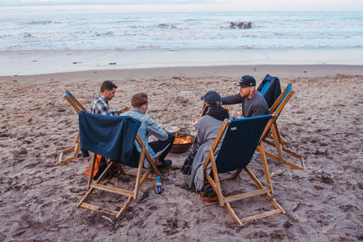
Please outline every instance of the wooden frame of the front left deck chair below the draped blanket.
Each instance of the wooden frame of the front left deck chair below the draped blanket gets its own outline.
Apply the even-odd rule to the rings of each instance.
[[[120,217],[123,214],[125,214],[125,211],[127,210],[128,206],[130,205],[132,200],[137,199],[137,194],[139,193],[142,184],[144,184],[144,181],[146,181],[146,179],[156,179],[156,177],[149,177],[150,172],[154,171],[156,176],[162,177],[162,174],[159,172],[159,170],[156,167],[156,163],[157,163],[158,159],[157,158],[154,160],[152,159],[149,152],[147,152],[146,144],[144,142],[142,142],[139,135],[136,136],[136,140],[137,140],[137,144],[139,144],[141,147],[139,166],[137,168],[136,174],[130,173],[130,172],[125,172],[125,170],[122,169],[121,164],[118,162],[110,162],[110,164],[107,166],[105,171],[102,172],[102,174],[97,179],[97,181],[93,182],[93,172],[95,169],[95,161],[96,161],[96,155],[93,154],[93,160],[92,160],[92,164],[91,164],[91,168],[90,168],[90,177],[88,177],[88,192],[85,194],[85,196],[83,196],[83,199],[81,199],[80,202],[77,204],[78,208],[81,207],[83,209],[90,209],[93,211],[102,212],[105,214],[109,214],[111,216],[116,216],[117,219],[120,219]],[[142,174],[142,165],[144,164],[144,157],[147,158],[147,162],[149,162],[150,168],[148,168],[144,172],[144,174]],[[105,177],[107,172],[110,171],[110,169],[112,167],[116,167],[116,169],[119,169],[121,174],[127,174],[127,175],[136,177],[134,190],[131,191],[131,190],[125,190],[125,189],[118,189],[113,186],[106,186],[105,184],[100,184],[102,179]],[[105,208],[101,208],[100,206],[95,206],[92,204],[86,204],[85,201],[87,201],[90,198],[91,194],[93,194],[93,191],[95,191],[96,189],[99,189],[102,191],[109,191],[109,192],[112,192],[115,194],[127,196],[127,201],[125,201],[125,204],[122,206],[120,211],[115,211],[112,209],[105,209]]]

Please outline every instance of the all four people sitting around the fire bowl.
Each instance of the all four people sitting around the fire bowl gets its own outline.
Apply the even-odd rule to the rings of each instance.
[[[251,75],[243,75],[239,80],[239,93],[221,97],[216,91],[210,90],[205,95],[201,96],[201,100],[208,105],[206,115],[191,121],[191,125],[196,128],[196,141],[189,153],[184,164],[181,166],[183,174],[189,174],[189,188],[195,186],[196,191],[204,191],[204,172],[203,162],[209,152],[209,147],[212,146],[216,139],[223,120],[234,120],[244,117],[255,117],[267,115],[269,113],[268,104],[261,93],[256,90],[256,80]],[[138,130],[142,142],[146,144],[147,151],[152,159],[159,157],[156,164],[158,169],[165,169],[172,165],[172,161],[165,159],[167,154],[172,149],[175,136],[165,132],[152,117],[146,114],[148,109],[147,93],[136,93],[131,98],[132,110],[130,107],[124,107],[120,110],[110,110],[108,101],[115,97],[117,86],[110,80],[105,80],[100,88],[100,93],[95,97],[90,107],[90,112],[100,115],[127,115],[139,120],[142,125]],[[228,112],[223,105],[233,105],[241,103],[241,112],[231,110]],[[149,142],[149,136],[154,135],[157,141]],[[216,148],[215,154],[218,154],[223,142],[223,137],[219,146]],[[137,145],[140,151],[140,147]],[[149,164],[144,163],[144,167],[148,168]]]

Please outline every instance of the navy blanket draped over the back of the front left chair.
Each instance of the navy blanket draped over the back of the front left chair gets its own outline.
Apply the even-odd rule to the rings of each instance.
[[[135,139],[141,122],[130,116],[97,115],[80,111],[80,149],[135,167]],[[134,164],[134,165],[132,165]]]

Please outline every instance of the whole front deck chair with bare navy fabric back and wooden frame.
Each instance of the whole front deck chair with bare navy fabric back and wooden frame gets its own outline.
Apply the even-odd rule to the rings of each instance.
[[[270,174],[268,172],[268,165],[266,162],[265,152],[263,149],[263,142],[261,142],[264,135],[270,130],[270,126],[273,125],[277,115],[264,115],[258,117],[248,117],[239,120],[224,120],[221,130],[214,141],[212,147],[209,148],[209,154],[204,162],[203,169],[206,179],[219,198],[219,205],[225,206],[229,214],[233,219],[243,226],[243,222],[251,219],[261,219],[273,214],[285,214],[283,208],[273,199],[273,186],[270,181]],[[218,146],[223,133],[226,131],[221,149],[219,150],[218,157],[215,157],[214,152]],[[261,150],[261,157],[263,162],[263,168],[265,171],[265,177],[267,181],[267,187],[264,187],[261,181],[252,173],[251,169],[247,168],[248,163],[251,161],[253,153],[259,147]],[[206,172],[207,167],[211,164],[211,174]],[[233,196],[224,196],[221,192],[221,181],[226,179],[235,179],[241,173],[242,169],[251,177],[251,179],[258,186],[258,190],[246,192],[243,194],[237,194]],[[236,171],[233,176],[223,179],[219,178],[219,173]],[[275,207],[272,211],[267,211],[254,216],[248,216],[245,218],[238,218],[237,214],[231,207],[232,201],[238,201],[246,199],[251,196],[263,195],[273,204]],[[248,205],[249,206],[249,205]]]

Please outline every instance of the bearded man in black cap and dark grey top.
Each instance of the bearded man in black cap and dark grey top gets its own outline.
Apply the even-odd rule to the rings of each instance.
[[[239,93],[222,98],[223,105],[242,104],[242,116],[243,117],[255,117],[261,115],[268,115],[268,105],[265,98],[261,93],[256,90],[256,80],[251,75],[243,75],[238,84]],[[231,111],[233,120],[241,118],[238,112]]]

